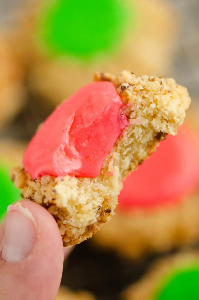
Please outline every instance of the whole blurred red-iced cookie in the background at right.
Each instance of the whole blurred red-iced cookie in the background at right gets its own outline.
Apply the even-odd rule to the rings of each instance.
[[[130,259],[199,239],[199,108],[123,182],[116,215],[92,238]]]

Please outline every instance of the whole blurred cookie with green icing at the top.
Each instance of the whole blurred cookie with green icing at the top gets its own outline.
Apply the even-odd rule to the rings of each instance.
[[[24,8],[14,39],[29,88],[57,105],[96,70],[164,75],[176,28],[161,0],[43,0]]]

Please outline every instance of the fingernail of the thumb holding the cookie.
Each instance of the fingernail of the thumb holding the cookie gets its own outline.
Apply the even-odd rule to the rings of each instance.
[[[28,208],[20,203],[8,206],[2,259],[19,262],[32,251],[36,241],[36,221]]]

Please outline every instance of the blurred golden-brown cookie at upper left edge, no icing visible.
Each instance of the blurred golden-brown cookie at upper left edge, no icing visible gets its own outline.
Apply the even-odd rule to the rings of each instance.
[[[14,54],[11,37],[0,33],[0,130],[23,108],[25,70]]]

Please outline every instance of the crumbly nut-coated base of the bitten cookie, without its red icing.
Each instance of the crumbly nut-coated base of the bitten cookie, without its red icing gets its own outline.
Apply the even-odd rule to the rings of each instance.
[[[64,245],[91,237],[112,217],[121,180],[142,164],[167,134],[176,134],[190,104],[186,88],[173,79],[137,77],[129,71],[117,76],[97,73],[95,79],[115,84],[130,123],[105,158],[99,176],[45,175],[33,181],[21,168],[11,171],[22,196],[43,205],[57,220]]]

